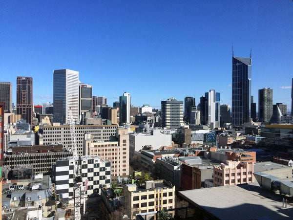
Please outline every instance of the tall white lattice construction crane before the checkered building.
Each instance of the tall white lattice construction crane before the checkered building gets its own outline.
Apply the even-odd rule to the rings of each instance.
[[[74,219],[81,219],[81,195],[83,180],[81,176],[82,160],[77,152],[76,136],[74,128],[74,120],[72,115],[71,107],[69,108],[69,124],[70,124],[70,137],[72,146],[69,149],[73,153],[74,162]]]

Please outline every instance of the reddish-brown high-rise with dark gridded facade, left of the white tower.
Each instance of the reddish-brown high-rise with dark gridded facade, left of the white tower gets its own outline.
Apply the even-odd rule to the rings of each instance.
[[[33,128],[33,78],[17,77],[16,112]]]

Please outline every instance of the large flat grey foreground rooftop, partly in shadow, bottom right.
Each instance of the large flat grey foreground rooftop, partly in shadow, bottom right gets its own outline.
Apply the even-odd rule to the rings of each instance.
[[[288,180],[288,179],[286,179]],[[282,197],[258,183],[180,191],[207,216],[215,219],[280,220],[293,217],[293,206],[282,207]]]

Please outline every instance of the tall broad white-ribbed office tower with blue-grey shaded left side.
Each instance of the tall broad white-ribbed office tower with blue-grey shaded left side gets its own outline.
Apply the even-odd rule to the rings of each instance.
[[[54,70],[54,122],[69,123],[69,108],[73,120],[79,121],[79,72]]]

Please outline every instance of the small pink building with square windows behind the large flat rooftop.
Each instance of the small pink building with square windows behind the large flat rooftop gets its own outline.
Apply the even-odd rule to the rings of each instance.
[[[227,186],[253,181],[253,162],[226,160],[220,166],[214,166],[214,186]]]

